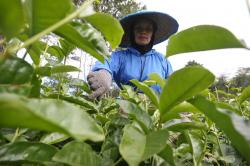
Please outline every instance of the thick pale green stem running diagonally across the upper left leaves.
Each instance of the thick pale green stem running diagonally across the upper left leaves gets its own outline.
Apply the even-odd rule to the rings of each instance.
[[[64,19],[58,21],[57,23],[53,24],[52,26],[48,27],[47,29],[43,30],[42,32],[32,36],[31,38],[29,38],[28,40],[26,40],[23,45],[21,46],[21,48],[27,47],[30,44],[34,43],[35,41],[39,40],[42,36],[56,30],[57,28],[63,26],[64,24],[68,23],[69,21],[71,21],[72,19],[78,17],[78,15],[85,10],[90,4],[92,4],[94,0],[87,0],[85,1],[75,12],[71,13],[70,15],[68,15],[67,17],[65,17]],[[18,48],[19,49],[19,48]],[[17,50],[18,50],[17,49]],[[15,50],[15,51],[17,51]]]

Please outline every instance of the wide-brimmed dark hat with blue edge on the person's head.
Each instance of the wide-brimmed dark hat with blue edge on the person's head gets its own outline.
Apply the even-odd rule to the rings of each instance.
[[[129,14],[120,20],[124,30],[120,47],[128,47],[131,45],[131,25],[140,18],[150,19],[155,22],[157,30],[155,32],[153,42],[154,45],[168,39],[169,36],[177,32],[179,27],[178,22],[173,17],[165,13],[155,11],[140,11],[134,14]]]

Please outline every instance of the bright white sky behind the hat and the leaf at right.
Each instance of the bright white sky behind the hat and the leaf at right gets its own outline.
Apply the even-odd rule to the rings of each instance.
[[[250,48],[250,13],[246,0],[136,0],[147,10],[160,11],[174,17],[179,23],[178,32],[192,26],[209,24],[230,30],[238,39],[243,39]],[[167,41],[154,46],[166,52]],[[168,58],[174,70],[195,60],[217,77],[233,77],[241,67],[250,67],[250,50],[220,49],[184,53]]]

